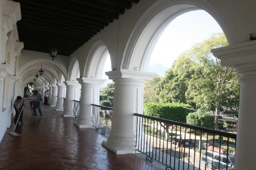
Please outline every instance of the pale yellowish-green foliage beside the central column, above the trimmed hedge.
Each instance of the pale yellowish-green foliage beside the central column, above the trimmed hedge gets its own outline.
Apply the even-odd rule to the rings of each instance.
[[[152,80],[147,81],[144,85],[144,102],[158,102],[158,96],[155,88],[160,81],[160,77],[154,77]]]

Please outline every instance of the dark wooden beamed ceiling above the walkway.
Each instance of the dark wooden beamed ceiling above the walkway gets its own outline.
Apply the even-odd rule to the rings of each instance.
[[[139,0],[14,0],[20,2],[17,22],[24,49],[69,56],[132,3]]]

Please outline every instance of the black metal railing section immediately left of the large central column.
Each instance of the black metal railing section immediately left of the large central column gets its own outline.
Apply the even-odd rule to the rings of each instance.
[[[109,108],[102,105],[93,106],[93,127],[98,131],[100,130],[103,134],[108,134],[111,130],[112,112],[113,108]]]

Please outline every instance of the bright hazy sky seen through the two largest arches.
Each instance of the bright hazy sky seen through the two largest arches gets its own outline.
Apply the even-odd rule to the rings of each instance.
[[[198,10],[182,14],[175,18],[160,36],[149,65],[162,64],[167,68],[185,50],[196,42],[201,42],[210,37],[212,33],[223,32],[215,19],[206,11]],[[106,71],[111,71],[110,57],[107,58],[102,74],[103,79],[108,79]]]

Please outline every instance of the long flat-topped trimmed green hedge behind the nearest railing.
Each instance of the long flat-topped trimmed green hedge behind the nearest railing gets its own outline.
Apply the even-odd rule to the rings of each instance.
[[[186,116],[192,112],[190,105],[183,103],[144,103],[144,114],[186,123]]]

